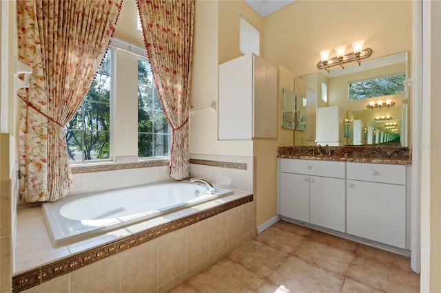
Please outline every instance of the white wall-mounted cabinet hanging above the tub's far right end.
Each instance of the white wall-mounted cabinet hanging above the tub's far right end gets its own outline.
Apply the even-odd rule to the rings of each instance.
[[[277,137],[277,68],[254,54],[219,65],[218,138]]]

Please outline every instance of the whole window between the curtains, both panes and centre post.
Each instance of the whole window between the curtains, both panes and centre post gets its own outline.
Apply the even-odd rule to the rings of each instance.
[[[118,74],[112,74],[112,69]],[[131,72],[127,73],[128,70]],[[127,102],[130,107],[118,107]],[[114,124],[116,127],[111,127],[114,120],[110,113],[119,119],[119,124]],[[121,123],[124,127],[120,127]],[[133,131],[121,133],[127,127]],[[123,145],[137,145],[139,158],[170,155],[170,127],[145,49],[112,38],[88,94],[65,127],[65,135],[71,162],[118,158],[119,153],[115,152],[123,149]]]

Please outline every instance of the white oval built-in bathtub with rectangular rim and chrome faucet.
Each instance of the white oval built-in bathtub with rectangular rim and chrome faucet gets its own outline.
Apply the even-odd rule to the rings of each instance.
[[[42,205],[54,246],[62,246],[141,221],[216,200],[233,191],[192,182],[163,182],[92,195],[69,195]]]

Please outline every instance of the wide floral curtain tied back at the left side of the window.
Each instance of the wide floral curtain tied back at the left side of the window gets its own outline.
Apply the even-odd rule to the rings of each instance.
[[[18,0],[19,60],[32,67],[20,89],[20,196],[54,201],[72,184],[63,127],[94,79],[122,0]]]

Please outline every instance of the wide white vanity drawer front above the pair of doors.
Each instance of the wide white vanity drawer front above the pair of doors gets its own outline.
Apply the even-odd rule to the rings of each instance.
[[[345,178],[345,162],[280,159],[280,171],[322,177]]]

